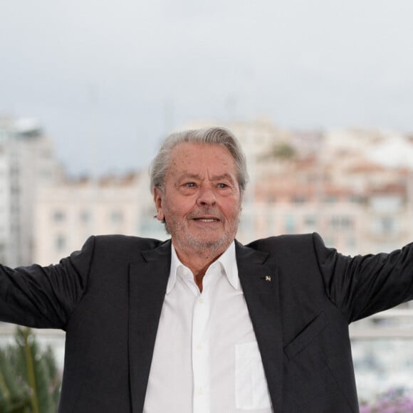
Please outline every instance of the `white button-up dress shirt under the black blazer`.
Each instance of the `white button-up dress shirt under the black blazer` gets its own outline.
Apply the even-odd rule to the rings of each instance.
[[[244,411],[273,412],[235,244],[209,266],[202,293],[172,246],[143,412]]]

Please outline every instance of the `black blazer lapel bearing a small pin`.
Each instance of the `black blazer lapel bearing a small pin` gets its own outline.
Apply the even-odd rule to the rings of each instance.
[[[273,411],[282,411],[283,335],[276,268],[268,253],[236,242],[236,261],[249,315],[261,352]]]

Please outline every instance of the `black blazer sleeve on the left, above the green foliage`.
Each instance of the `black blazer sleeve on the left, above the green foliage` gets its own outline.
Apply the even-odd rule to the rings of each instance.
[[[65,330],[88,286],[95,237],[57,265],[0,266],[0,320]]]

